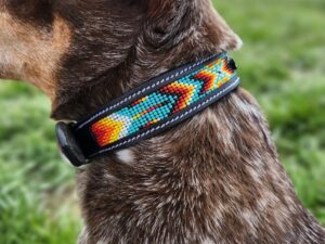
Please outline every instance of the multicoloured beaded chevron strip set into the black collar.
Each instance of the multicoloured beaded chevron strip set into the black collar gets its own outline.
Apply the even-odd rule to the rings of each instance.
[[[99,146],[113,144],[182,113],[229,82],[234,75],[224,55],[95,121],[91,132]]]

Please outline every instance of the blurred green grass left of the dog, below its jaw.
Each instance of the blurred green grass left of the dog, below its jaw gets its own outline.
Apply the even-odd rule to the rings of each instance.
[[[0,98],[0,243],[75,243],[74,170],[58,156],[49,102],[21,84],[1,84]]]

